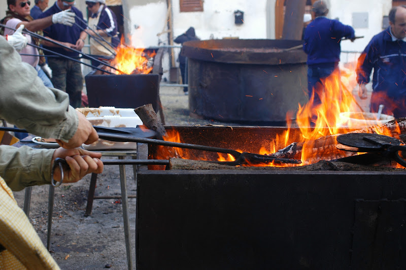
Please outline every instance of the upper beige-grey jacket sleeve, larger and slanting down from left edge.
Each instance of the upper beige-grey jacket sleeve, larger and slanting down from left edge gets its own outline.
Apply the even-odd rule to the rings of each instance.
[[[78,127],[69,96],[46,87],[37,71],[0,36],[0,118],[44,138],[67,142]]]

